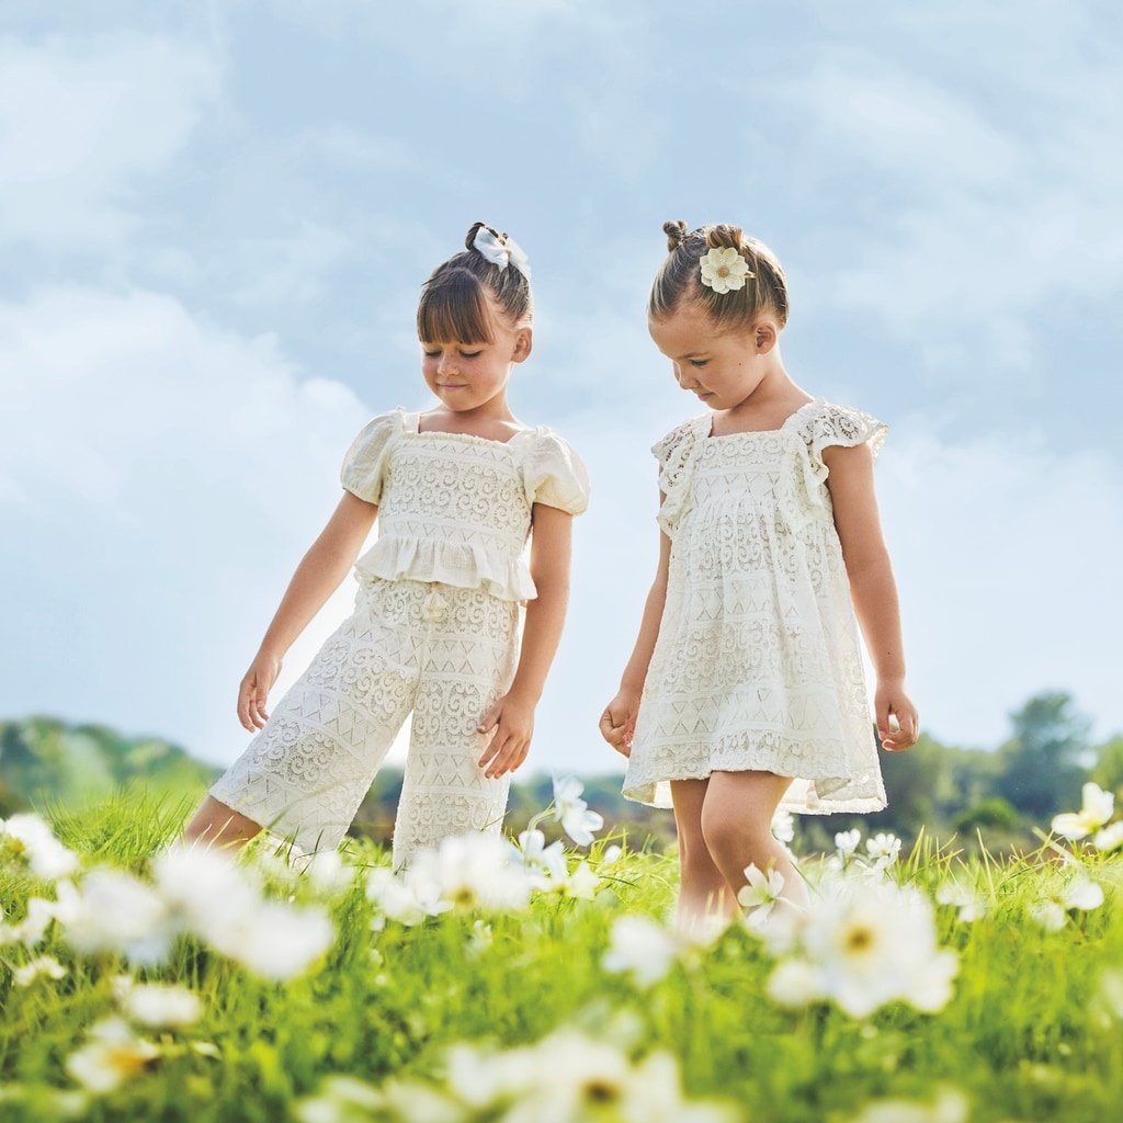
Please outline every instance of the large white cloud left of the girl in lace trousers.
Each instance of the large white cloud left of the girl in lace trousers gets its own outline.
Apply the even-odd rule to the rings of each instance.
[[[368,410],[152,293],[0,305],[0,712],[229,759],[237,683]],[[293,652],[286,681],[349,590]],[[312,648],[314,650],[314,646]],[[283,686],[284,684],[282,684]]]

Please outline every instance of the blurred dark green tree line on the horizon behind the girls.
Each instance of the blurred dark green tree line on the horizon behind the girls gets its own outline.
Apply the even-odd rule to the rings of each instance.
[[[941,842],[955,839],[958,848],[983,844],[1005,853],[1035,847],[1035,831],[1047,831],[1054,814],[1078,810],[1088,780],[1123,798],[1123,734],[1093,743],[1092,723],[1071,695],[1037,694],[1011,714],[1011,737],[994,749],[957,748],[922,736],[907,752],[883,754],[888,806],[871,815],[798,816],[795,849],[831,850],[836,832],[857,827],[905,840],[923,831]],[[53,718],[0,721],[0,816],[97,800],[127,784],[191,803],[216,774],[185,749],[154,737],[128,738],[104,725]],[[618,774],[583,779],[588,805],[604,816],[602,833],[623,834],[636,849],[674,842],[672,813],[624,800]],[[401,785],[400,769],[384,769],[353,833],[389,841]],[[551,797],[550,776],[517,777],[508,828],[523,830]]]

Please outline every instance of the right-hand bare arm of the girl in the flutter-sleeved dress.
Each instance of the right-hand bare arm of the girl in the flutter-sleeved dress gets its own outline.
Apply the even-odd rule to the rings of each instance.
[[[834,527],[842,544],[855,614],[877,675],[877,736],[886,749],[907,749],[919,736],[916,706],[905,692],[901,609],[877,513],[874,455],[868,445],[831,446],[823,450],[823,463],[829,471],[827,486],[834,505]]]

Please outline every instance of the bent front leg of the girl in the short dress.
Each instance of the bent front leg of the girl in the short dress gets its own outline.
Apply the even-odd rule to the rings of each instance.
[[[715,772],[702,807],[702,836],[711,860],[730,892],[747,884],[745,870],[777,870],[784,877],[780,896],[792,904],[807,903],[806,888],[787,848],[772,832],[776,807],[792,780],[766,772]]]

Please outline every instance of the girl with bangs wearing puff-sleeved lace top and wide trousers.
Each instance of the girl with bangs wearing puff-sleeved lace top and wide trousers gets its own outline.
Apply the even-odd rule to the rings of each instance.
[[[188,824],[189,841],[237,846],[264,828],[299,853],[336,847],[410,713],[395,867],[446,836],[502,823],[562,634],[570,522],[588,483],[560,437],[508,405],[531,347],[526,256],[478,222],[466,245],[433,271],[418,308],[421,371],[439,404],[382,413],[351,445],[343,500],[241,681],[238,715],[259,732]],[[355,564],[375,518],[377,539]],[[267,714],[285,651],[353,564],[354,614]]]

